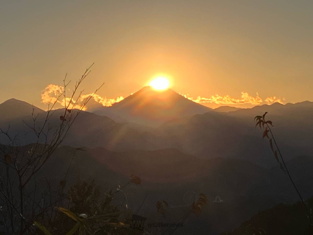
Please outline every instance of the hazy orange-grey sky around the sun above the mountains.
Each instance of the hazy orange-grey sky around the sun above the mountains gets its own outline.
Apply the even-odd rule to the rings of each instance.
[[[62,86],[68,73],[74,86],[93,62],[83,93],[105,82],[104,104],[157,74],[209,107],[313,101],[312,1],[0,4],[0,103],[44,109],[49,85]]]

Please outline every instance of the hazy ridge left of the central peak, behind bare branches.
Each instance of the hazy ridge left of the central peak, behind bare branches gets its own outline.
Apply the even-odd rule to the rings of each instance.
[[[6,131],[10,126],[8,134],[12,138],[16,136],[16,144],[24,145],[37,141],[37,136],[31,131],[33,128],[32,105],[11,99],[1,104],[0,110],[4,112],[0,115],[0,128]],[[73,115],[75,112],[78,110],[72,110]],[[38,130],[45,122],[47,112],[34,107],[34,113],[35,128]],[[54,128],[50,130],[52,134],[60,124],[59,117],[64,115],[64,109],[56,109],[50,115],[48,123],[50,128]],[[46,131],[47,129],[44,129],[44,133]],[[5,135],[0,134],[0,144],[9,144],[8,141]],[[44,141],[44,136],[39,141]],[[64,144],[74,147],[104,147],[120,151],[157,149],[162,143],[162,137],[156,138],[151,134],[151,128],[133,123],[117,123],[109,117],[85,111],[80,112],[64,141]]]

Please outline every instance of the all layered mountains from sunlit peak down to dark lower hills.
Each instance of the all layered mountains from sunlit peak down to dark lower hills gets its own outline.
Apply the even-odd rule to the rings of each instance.
[[[305,198],[312,196],[313,102],[213,110],[172,90],[156,92],[145,87],[112,107],[81,112],[63,143],[69,146],[56,150],[42,169],[42,177],[53,176],[59,182],[75,147],[82,147],[87,151],[76,152],[67,185],[78,174],[96,178],[105,189],[114,188],[136,174],[142,185],[128,191],[133,209],[140,206],[138,198],[141,203],[147,194],[141,212],[150,219],[156,216],[156,201],[163,199],[177,214],[189,206],[191,196],[205,193],[209,204],[201,219],[191,218],[179,232],[231,230],[259,210],[298,200],[268,140],[255,128],[254,116],[268,112],[295,184]],[[111,110],[111,117],[96,114],[107,110]],[[16,99],[3,102],[0,128],[10,127],[8,133],[17,135],[18,144],[31,144],[36,136],[26,124],[33,124],[32,112],[40,126],[47,114],[44,110]],[[63,113],[64,109],[55,110],[49,125],[57,126]],[[125,120],[119,119],[123,117]],[[0,134],[0,144],[7,144],[5,135]],[[213,203],[216,196],[224,202]]]

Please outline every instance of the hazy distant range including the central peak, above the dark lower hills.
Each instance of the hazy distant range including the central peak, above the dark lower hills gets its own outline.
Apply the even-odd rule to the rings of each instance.
[[[64,144],[103,147],[111,151],[169,148],[206,159],[239,158],[271,167],[276,161],[268,141],[262,140],[262,131],[254,127],[254,116],[268,112],[267,118],[274,124],[275,137],[286,159],[297,155],[313,155],[312,102],[286,105],[274,103],[250,109],[216,112],[172,90],[157,92],[144,87],[122,102],[97,111],[104,113],[106,109],[114,110],[114,115],[119,113],[120,119],[127,117],[128,122],[125,123],[119,123],[116,120],[119,118],[114,120],[114,115],[110,118],[82,112]],[[145,100],[145,97],[149,98]],[[29,133],[29,128],[25,125],[33,123],[33,108],[38,115],[38,124],[43,122],[45,111],[15,99],[3,102],[0,104],[0,127],[7,129],[10,125],[10,133],[19,133],[21,144],[34,142],[35,136]],[[228,108],[226,110],[229,111]],[[60,122],[62,112],[62,109],[54,112],[49,119],[51,125]],[[150,119],[154,127],[149,126]],[[0,135],[0,143],[6,143],[3,135]]]

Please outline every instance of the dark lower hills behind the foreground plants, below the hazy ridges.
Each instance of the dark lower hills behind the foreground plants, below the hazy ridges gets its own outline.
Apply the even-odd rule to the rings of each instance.
[[[230,231],[258,211],[298,199],[287,176],[280,169],[265,169],[244,160],[201,159],[175,149],[128,152],[112,152],[102,148],[85,150],[75,151],[70,147],[58,149],[41,171],[42,178],[52,179],[58,184],[72,162],[67,187],[77,177],[81,180],[95,178],[95,182],[105,191],[124,185],[131,174],[136,174],[142,182],[140,186],[126,189],[128,204],[134,211],[141,208],[140,213],[148,217],[148,222],[162,219],[156,212],[156,201],[166,200],[169,203],[167,220],[175,221],[177,215],[179,217],[188,210],[200,193],[206,194],[209,202],[201,216],[188,218],[184,228],[178,230],[177,234]],[[313,176],[303,175],[301,171],[312,172],[311,162],[310,157],[287,162],[305,198],[313,195],[310,187]],[[306,179],[302,181],[304,176]],[[38,181],[40,179],[38,177]],[[123,195],[120,196],[123,198]],[[223,201],[219,202],[219,199]]]

